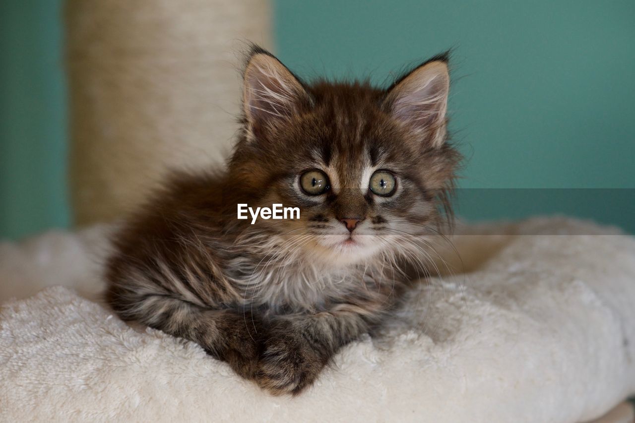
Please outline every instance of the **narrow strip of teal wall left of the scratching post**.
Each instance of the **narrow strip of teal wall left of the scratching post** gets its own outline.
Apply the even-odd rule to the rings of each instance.
[[[61,4],[0,1],[0,238],[69,224]]]

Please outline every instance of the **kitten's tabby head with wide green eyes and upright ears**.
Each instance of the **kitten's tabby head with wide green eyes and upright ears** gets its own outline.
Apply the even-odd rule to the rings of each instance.
[[[230,168],[253,205],[299,207],[297,220],[260,220],[285,253],[333,264],[408,249],[436,230],[458,154],[445,144],[443,60],[387,91],[368,84],[305,86],[255,53],[245,73],[245,137]],[[250,204],[251,205],[251,204]]]

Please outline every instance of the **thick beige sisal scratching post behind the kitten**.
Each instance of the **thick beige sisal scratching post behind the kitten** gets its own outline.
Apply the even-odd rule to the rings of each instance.
[[[77,224],[133,210],[166,168],[218,163],[237,130],[243,41],[262,0],[67,0],[70,184]]]

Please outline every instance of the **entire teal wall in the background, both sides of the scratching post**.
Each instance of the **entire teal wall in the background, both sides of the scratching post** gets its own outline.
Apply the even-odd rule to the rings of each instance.
[[[63,3],[0,2],[0,238],[73,222]],[[635,232],[634,22],[632,0],[274,0],[271,47],[302,77],[377,84],[451,48],[458,214]]]

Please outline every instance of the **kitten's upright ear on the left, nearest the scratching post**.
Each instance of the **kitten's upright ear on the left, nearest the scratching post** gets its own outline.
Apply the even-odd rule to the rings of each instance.
[[[271,53],[253,48],[244,69],[243,112],[255,132],[311,104],[302,83]]]

